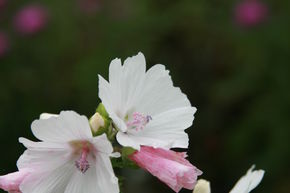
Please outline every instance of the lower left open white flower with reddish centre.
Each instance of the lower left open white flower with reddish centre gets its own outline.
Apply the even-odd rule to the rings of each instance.
[[[20,184],[22,193],[119,193],[112,145],[105,134],[92,136],[85,116],[63,111],[31,127],[41,142],[19,139],[27,150],[17,166],[33,169]]]

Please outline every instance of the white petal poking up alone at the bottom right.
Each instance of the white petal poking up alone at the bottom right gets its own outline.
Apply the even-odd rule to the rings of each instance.
[[[249,193],[252,191],[263,179],[264,170],[254,170],[255,166],[252,166],[247,174],[236,183],[230,193]]]

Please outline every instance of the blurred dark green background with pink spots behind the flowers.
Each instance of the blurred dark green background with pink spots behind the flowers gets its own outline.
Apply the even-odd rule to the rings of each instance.
[[[254,163],[266,174],[253,192],[288,193],[289,18],[287,0],[0,0],[0,175],[17,169],[18,137],[34,139],[40,113],[92,115],[97,74],[141,51],[198,108],[189,160],[213,193]],[[173,192],[122,173],[125,193]]]

